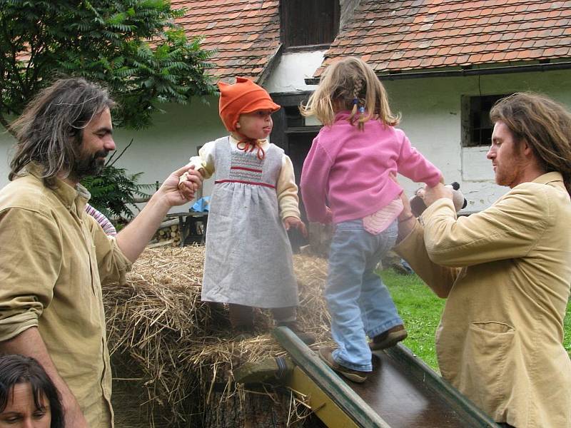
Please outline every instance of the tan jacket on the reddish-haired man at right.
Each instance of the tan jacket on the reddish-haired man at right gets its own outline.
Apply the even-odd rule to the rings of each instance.
[[[452,201],[438,200],[420,223],[395,250],[448,297],[436,332],[443,377],[496,422],[571,427],[571,361],[562,345],[571,202],[562,176],[517,185],[458,220]]]

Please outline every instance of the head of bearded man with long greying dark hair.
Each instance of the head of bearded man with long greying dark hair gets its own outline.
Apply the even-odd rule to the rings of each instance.
[[[79,181],[100,173],[115,149],[110,138],[113,106],[106,88],[84,78],[64,78],[45,88],[10,125],[18,143],[9,180],[22,175],[29,163],[41,167],[50,187],[56,177]],[[106,139],[106,144],[90,144],[94,138]]]

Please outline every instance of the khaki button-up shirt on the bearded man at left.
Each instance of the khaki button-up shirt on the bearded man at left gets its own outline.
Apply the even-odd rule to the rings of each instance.
[[[111,427],[111,370],[101,282],[130,263],[84,211],[89,192],[37,169],[0,190],[0,342],[38,327],[90,427]]]

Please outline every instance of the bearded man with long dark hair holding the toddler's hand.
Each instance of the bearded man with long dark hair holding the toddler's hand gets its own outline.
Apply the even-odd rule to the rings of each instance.
[[[113,424],[101,282],[123,280],[168,210],[201,183],[188,166],[176,170],[108,237],[86,214],[79,181],[115,150],[111,108],[106,90],[82,78],[46,88],[12,124],[11,183],[0,190],[0,352],[38,360],[74,428]]]

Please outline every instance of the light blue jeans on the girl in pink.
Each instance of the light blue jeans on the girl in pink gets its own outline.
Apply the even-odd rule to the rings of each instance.
[[[387,287],[375,273],[380,258],[395,245],[397,232],[396,221],[378,235],[364,230],[363,220],[335,225],[325,300],[331,335],[339,346],[333,360],[353,370],[373,370],[367,336],[403,324]]]

